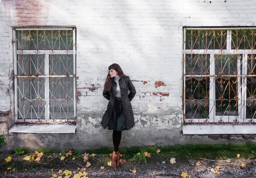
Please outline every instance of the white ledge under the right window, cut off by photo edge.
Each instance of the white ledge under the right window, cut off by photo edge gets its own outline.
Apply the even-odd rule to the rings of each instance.
[[[256,134],[256,124],[183,125],[183,134]]]

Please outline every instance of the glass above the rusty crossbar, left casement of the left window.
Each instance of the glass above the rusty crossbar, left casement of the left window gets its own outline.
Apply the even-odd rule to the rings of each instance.
[[[44,75],[44,55],[43,54],[18,54],[17,55],[17,75]]]

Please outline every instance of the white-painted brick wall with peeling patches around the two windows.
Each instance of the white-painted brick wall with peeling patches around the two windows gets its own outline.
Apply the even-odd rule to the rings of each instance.
[[[108,103],[102,96],[108,66],[118,63],[137,90],[132,101],[137,125],[124,137],[141,136],[124,145],[138,145],[142,130],[152,127],[165,130],[168,139],[179,137],[183,27],[254,26],[255,9],[254,0],[1,0],[0,111],[10,112],[3,121],[13,123],[12,27],[76,26],[78,132],[99,126]],[[100,130],[93,129],[89,135]],[[155,138],[149,144],[156,144]],[[179,142],[167,144],[173,143]]]

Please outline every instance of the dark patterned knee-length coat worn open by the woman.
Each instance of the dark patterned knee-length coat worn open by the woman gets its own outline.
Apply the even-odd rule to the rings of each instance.
[[[121,91],[122,107],[125,116],[125,125],[127,130],[129,130],[132,127],[134,127],[134,115],[131,108],[131,100],[134,98],[136,90],[128,76],[120,77],[119,87]],[[128,90],[130,91],[129,94]],[[111,93],[109,93],[107,90],[103,90],[103,96],[109,100],[108,108],[104,113],[101,121],[102,127],[105,129],[108,126],[108,123],[111,119],[111,115],[113,113],[114,102],[116,98],[116,82],[113,83]]]

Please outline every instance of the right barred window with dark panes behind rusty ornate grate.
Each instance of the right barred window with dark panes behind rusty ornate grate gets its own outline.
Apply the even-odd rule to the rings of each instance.
[[[256,123],[256,28],[184,28],[184,124]]]

